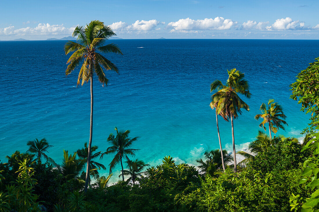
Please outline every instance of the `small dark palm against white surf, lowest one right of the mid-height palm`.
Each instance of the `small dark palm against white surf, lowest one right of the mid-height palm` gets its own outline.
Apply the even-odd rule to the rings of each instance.
[[[145,173],[142,172],[143,169],[149,166],[149,164],[145,164],[143,161],[138,159],[134,161],[128,160],[126,161],[126,164],[128,170],[123,170],[122,174],[120,174],[119,177],[121,177],[121,175],[130,176],[129,179],[127,179],[127,182],[132,182],[133,185],[135,185],[135,181],[139,180],[139,178],[142,177]]]

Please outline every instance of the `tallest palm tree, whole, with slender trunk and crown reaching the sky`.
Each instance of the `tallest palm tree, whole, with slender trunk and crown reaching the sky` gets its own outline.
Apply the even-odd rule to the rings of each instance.
[[[105,45],[106,40],[116,34],[103,22],[95,20],[84,26],[77,26],[72,34],[73,37],[78,36],[77,42],[68,41],[64,46],[65,54],[74,52],[67,63],[69,63],[65,74],[69,75],[80,63],[81,69],[78,75],[77,85],[83,85],[85,82],[91,83],[91,116],[90,116],[90,139],[88,146],[88,157],[86,162],[85,188],[86,192],[89,180],[89,167],[91,160],[91,144],[92,144],[92,128],[93,128],[93,75],[96,75],[102,86],[108,85],[108,79],[105,77],[105,70],[112,70],[116,73],[118,68],[101,53],[122,54],[116,44]],[[102,68],[103,67],[103,68]],[[80,82],[82,80],[82,83]]]

